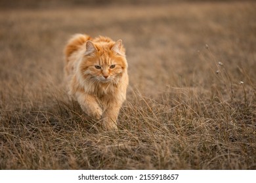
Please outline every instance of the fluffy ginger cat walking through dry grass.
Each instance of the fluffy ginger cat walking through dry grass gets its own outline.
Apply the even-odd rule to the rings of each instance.
[[[65,55],[69,94],[86,114],[96,120],[102,117],[104,128],[117,129],[129,83],[122,41],[76,34],[66,45]]]

